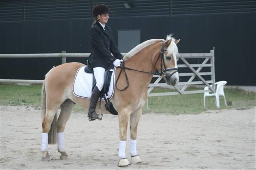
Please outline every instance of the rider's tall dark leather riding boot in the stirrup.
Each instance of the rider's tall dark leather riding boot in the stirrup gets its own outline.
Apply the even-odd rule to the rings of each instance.
[[[98,119],[99,114],[95,112],[95,107],[96,107],[98,99],[100,97],[100,93],[101,93],[101,91],[98,89],[97,86],[95,86],[91,93],[90,107],[89,107],[89,111],[88,111],[89,121]]]

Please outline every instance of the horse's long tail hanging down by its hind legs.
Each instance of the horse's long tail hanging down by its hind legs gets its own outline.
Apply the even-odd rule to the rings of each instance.
[[[41,116],[45,117],[46,112],[46,93],[45,93],[45,80],[41,92]],[[48,133],[48,144],[57,143],[57,112],[55,113],[54,119],[52,120],[51,129]]]

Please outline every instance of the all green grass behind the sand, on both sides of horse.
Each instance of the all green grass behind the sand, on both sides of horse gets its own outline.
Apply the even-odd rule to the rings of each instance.
[[[190,88],[189,90],[196,90]],[[152,93],[170,92],[170,89],[154,88]],[[172,90],[174,91],[174,90]],[[225,106],[224,100],[220,97],[220,109],[230,109],[232,107],[256,106],[256,93],[246,92],[238,89],[225,89],[227,102],[232,105]],[[40,106],[41,85],[9,85],[0,84],[0,104],[1,105],[32,105]],[[143,112],[172,113],[172,114],[196,114],[207,110],[218,110],[215,106],[214,97],[206,98],[206,107],[203,106],[203,93],[173,95],[148,98],[148,110],[146,105]],[[75,107],[75,111],[84,111]]]

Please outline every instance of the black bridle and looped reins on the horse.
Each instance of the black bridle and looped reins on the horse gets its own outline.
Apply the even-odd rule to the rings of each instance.
[[[116,84],[117,84],[117,81],[119,80],[119,77],[120,77],[122,71],[124,70],[124,74],[125,74],[127,86],[124,87],[124,89],[118,89],[117,86],[115,85],[115,86],[116,86],[116,89],[117,89],[117,90],[120,90],[120,91],[123,91],[123,90],[126,90],[126,89],[129,87],[129,80],[128,80],[128,77],[127,77],[127,74],[126,74],[126,69],[127,69],[127,70],[138,71],[138,72],[141,72],[141,73],[154,74],[154,75],[157,75],[157,76],[163,76],[163,75],[165,76],[165,72],[167,72],[167,71],[173,71],[173,70],[174,70],[174,72],[173,72],[169,77],[171,77],[174,73],[178,72],[178,71],[179,71],[179,70],[178,70],[178,67],[166,68],[166,66],[165,66],[164,51],[167,51],[167,48],[164,48],[165,42],[166,42],[166,41],[164,41],[164,42],[162,43],[161,51],[160,51],[160,53],[159,53],[159,55],[158,55],[158,58],[156,59],[155,64],[154,64],[154,67],[155,67],[155,65],[156,65],[156,63],[157,63],[157,61],[158,61],[158,59],[161,57],[161,70],[160,70],[160,71],[158,71],[158,72],[147,72],[147,71],[135,70],[135,69],[133,69],[133,68],[125,67],[124,61],[123,61],[123,62],[122,62],[122,65],[120,66],[120,67],[121,67],[121,71],[120,71],[119,75],[117,76]],[[166,58],[171,58],[171,57],[166,56]],[[163,70],[163,65],[164,65],[164,70]]]

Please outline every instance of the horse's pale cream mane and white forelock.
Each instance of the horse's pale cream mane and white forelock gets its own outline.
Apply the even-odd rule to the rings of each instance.
[[[166,40],[169,40],[171,38],[172,38],[172,42],[174,43],[175,39],[172,37],[172,34],[169,34],[169,35],[166,36]],[[164,39],[151,39],[151,40],[144,41],[143,43],[141,43],[141,44],[137,45],[136,47],[134,47],[126,55],[124,55],[123,60],[128,60],[133,55],[135,55],[136,53],[140,52],[143,48],[146,48],[147,46],[155,44],[155,43],[158,43],[160,41],[165,41],[165,40]],[[178,48],[177,48],[176,45],[172,46],[172,47],[168,47],[168,49],[167,49],[167,51],[172,51],[172,50],[174,50],[175,52],[178,53]]]

